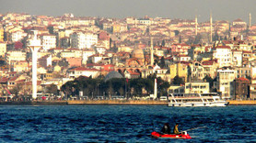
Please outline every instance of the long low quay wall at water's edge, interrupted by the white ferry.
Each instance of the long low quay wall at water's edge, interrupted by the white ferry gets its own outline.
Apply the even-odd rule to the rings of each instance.
[[[228,105],[256,105],[255,100],[230,100]],[[152,100],[68,100],[68,101],[8,101],[0,105],[167,105],[166,101]]]

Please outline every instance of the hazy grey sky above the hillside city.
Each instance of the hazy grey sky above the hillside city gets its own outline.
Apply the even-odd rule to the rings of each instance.
[[[169,17],[256,22],[256,0],[0,0],[0,13],[85,17]]]

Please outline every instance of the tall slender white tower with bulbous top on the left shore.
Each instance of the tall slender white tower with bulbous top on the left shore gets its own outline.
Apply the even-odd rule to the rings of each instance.
[[[38,50],[41,48],[41,40],[37,38],[37,30],[34,30],[33,38],[29,39],[29,48],[32,51],[32,98],[37,98],[37,60],[38,60]]]

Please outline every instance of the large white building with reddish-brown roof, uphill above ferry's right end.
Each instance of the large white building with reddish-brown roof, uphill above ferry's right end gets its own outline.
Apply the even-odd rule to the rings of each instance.
[[[229,46],[218,46],[214,50],[214,59],[217,59],[219,67],[232,65],[232,51]]]

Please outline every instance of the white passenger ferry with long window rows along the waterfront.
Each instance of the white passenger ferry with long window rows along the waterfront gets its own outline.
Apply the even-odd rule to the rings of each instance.
[[[169,106],[227,106],[217,93],[170,93]]]

